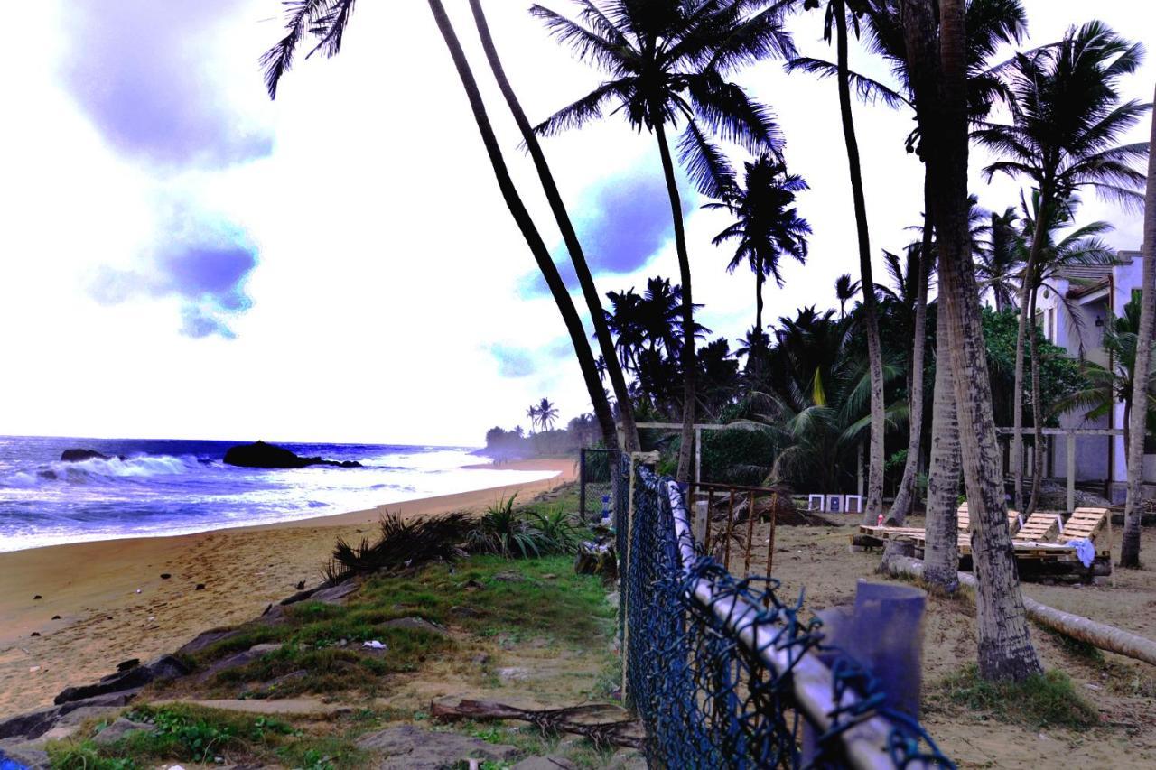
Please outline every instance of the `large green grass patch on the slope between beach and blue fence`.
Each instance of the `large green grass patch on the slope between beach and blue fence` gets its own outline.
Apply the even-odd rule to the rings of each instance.
[[[469,644],[459,643],[460,636],[455,641],[420,628],[390,627],[391,621],[415,616],[477,639],[538,636],[585,647],[609,639],[615,612],[601,580],[576,575],[569,556],[507,560],[479,555],[429,564],[408,575],[369,577],[344,605],[291,605],[286,608],[286,622],[254,622],[238,636],[187,656],[186,661],[205,671],[254,644],[279,643],[280,650],[193,688],[234,697],[373,695],[391,674],[420,671],[427,660],[445,660],[459,650],[472,654]],[[381,642],[386,650],[363,647],[368,641]]]

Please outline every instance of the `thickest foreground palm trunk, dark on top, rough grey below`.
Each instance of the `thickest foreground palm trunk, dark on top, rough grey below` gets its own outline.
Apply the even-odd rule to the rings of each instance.
[[[955,380],[959,453],[978,583],[979,671],[985,679],[1022,681],[1042,668],[1028,631],[1007,525],[979,294],[971,261],[964,0],[940,0],[938,51],[932,2],[904,3],[904,32],[917,116],[933,175],[940,312],[947,313],[946,342]]]

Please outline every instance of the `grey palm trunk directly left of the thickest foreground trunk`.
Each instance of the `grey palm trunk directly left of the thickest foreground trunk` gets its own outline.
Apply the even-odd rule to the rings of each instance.
[[[947,311],[935,318],[935,395],[932,406],[932,461],[927,472],[927,542],[925,578],[944,593],[959,587],[956,508],[959,496],[959,424],[955,414],[955,379],[948,350]]]

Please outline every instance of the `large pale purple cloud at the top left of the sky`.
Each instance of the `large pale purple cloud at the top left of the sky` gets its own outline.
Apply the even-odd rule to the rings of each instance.
[[[227,104],[213,62],[242,0],[75,0],[65,13],[65,84],[126,155],[162,165],[221,166],[267,155],[271,135]],[[260,72],[252,52],[254,102]]]

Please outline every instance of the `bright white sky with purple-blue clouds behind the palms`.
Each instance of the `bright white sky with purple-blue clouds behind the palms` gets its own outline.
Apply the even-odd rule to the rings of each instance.
[[[466,1],[445,5],[514,180],[564,260]],[[528,5],[486,8],[538,120],[600,76]],[[1092,17],[1156,30],[1156,9],[1134,0],[1024,5],[1028,44]],[[281,37],[280,14],[276,0],[25,3],[0,47],[0,434],[477,445],[492,425],[525,424],[542,397],[564,419],[590,410],[428,5],[357,3],[340,55],[299,60],[271,102],[258,58]],[[817,13],[788,29],[805,55],[830,54]],[[1127,97],[1151,99],[1154,57]],[[852,66],[884,74],[860,51]],[[810,184],[799,199],[810,258],[768,286],[766,318],[832,306],[836,276],[858,274],[835,83],[776,62],[736,80],[775,110]],[[855,121],[882,282],[882,250],[919,222],[921,170],[903,148],[910,113],[857,104]],[[653,136],[615,116],[544,150],[601,293],[677,275]],[[973,151],[980,203],[1016,203],[1017,183],[983,180],[985,160]],[[754,320],[754,277],[727,274],[731,253],[711,245],[726,214],[683,193],[701,320],[736,338]],[[1140,246],[1139,213],[1089,195],[1080,219]]]

